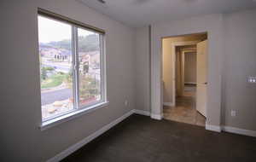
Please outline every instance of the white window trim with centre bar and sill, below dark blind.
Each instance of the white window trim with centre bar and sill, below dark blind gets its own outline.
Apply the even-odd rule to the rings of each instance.
[[[42,15],[42,14],[38,14],[38,15]],[[44,16],[44,15],[43,15]],[[44,16],[45,17],[45,16]],[[50,16],[46,16],[49,19],[53,19],[54,18],[50,17]],[[65,22],[64,22],[65,23]],[[79,57],[78,57],[78,29],[82,28],[88,31],[92,31],[92,32],[97,32],[91,29],[87,29],[84,26],[77,26],[77,25],[73,25],[72,23],[70,23],[70,25],[72,25],[72,50],[73,50],[73,59],[77,59],[77,61],[73,60],[73,78],[76,78],[77,75],[79,75],[79,65],[76,65],[75,62],[77,64],[79,64]],[[102,108],[102,107],[108,107],[109,101],[107,99],[107,77],[106,77],[106,50],[105,50],[105,34],[101,33],[101,32],[97,32],[99,34],[99,39],[100,39],[100,69],[101,69],[101,100],[100,101],[95,101],[92,102],[88,105],[85,105],[84,107],[79,107],[79,78],[74,79],[74,81],[76,83],[74,83],[73,86],[73,95],[77,95],[76,101],[74,101],[74,109],[70,112],[67,113],[63,113],[60,115],[56,115],[55,117],[49,118],[49,119],[43,119],[42,115],[41,115],[41,124],[39,126],[40,130],[47,130],[55,125],[67,122],[71,119],[76,119],[81,115],[84,115],[86,113],[90,113],[92,111],[95,111],[96,109]],[[41,110],[41,107],[40,107]]]

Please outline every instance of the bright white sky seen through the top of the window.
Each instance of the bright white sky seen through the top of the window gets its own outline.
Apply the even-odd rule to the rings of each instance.
[[[79,29],[79,36],[87,36],[93,34],[83,29]],[[51,20],[44,16],[38,15],[38,37],[39,43],[49,43],[61,41],[63,39],[71,39],[71,25],[58,20]]]

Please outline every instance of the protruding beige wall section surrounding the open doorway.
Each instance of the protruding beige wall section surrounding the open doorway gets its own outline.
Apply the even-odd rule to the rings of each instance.
[[[184,20],[160,22],[152,25],[151,43],[151,110],[162,116],[160,84],[162,81],[162,38],[189,33],[207,32],[209,60],[207,93],[207,124],[219,125],[221,114],[221,62],[223,53],[223,14],[208,14]],[[156,116],[154,115],[154,116]]]

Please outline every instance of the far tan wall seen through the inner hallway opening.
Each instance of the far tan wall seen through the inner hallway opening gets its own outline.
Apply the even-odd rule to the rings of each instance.
[[[196,52],[184,55],[184,81],[196,83]]]

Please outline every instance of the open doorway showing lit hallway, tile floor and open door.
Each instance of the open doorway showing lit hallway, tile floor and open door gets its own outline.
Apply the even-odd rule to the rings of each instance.
[[[207,33],[162,41],[164,119],[205,126]]]

